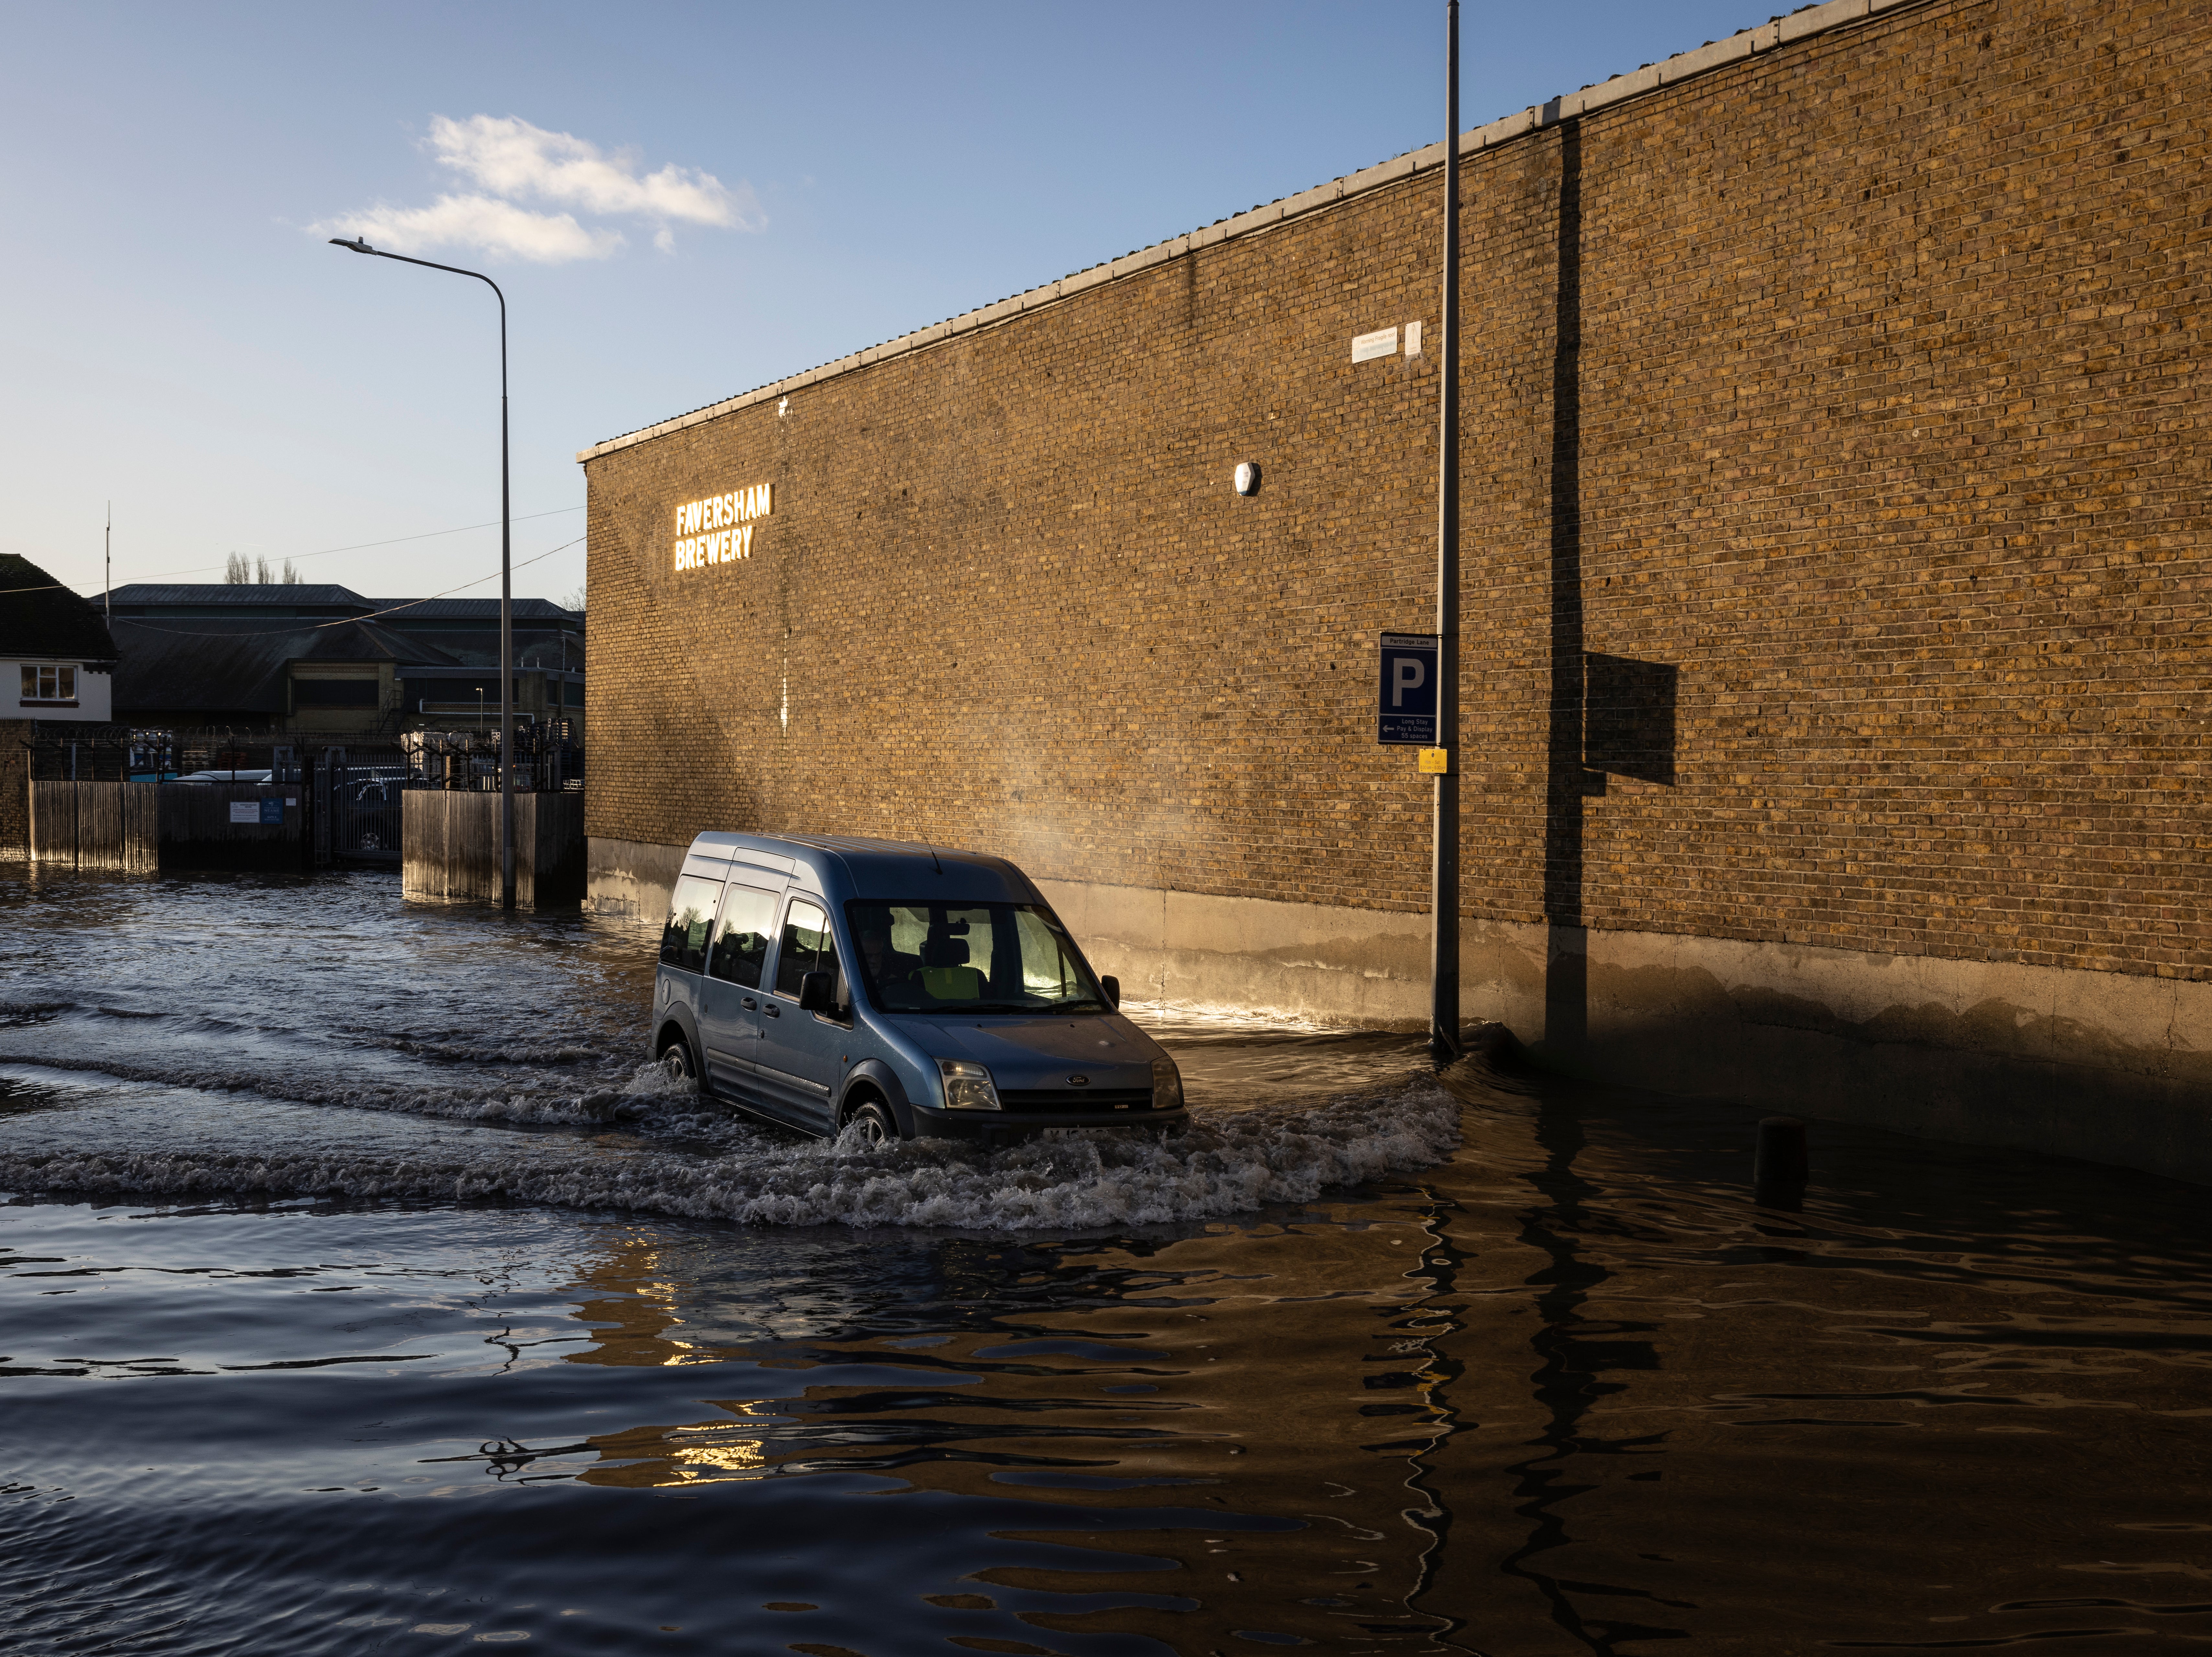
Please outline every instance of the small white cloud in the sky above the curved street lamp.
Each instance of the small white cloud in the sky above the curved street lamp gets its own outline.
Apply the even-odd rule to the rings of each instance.
[[[476,190],[440,195],[427,208],[378,204],[345,219],[310,226],[314,235],[358,235],[392,252],[427,254],[469,248],[495,259],[566,263],[606,259],[624,246],[619,230],[577,223],[573,212],[535,212],[518,201],[577,208],[597,217],[630,217],[653,226],[653,246],[675,252],[675,226],[765,230],[768,215],[752,186],[726,186],[712,173],[664,166],[639,170],[628,153],[606,153],[571,133],[507,115],[431,117],[429,146],[440,166]]]

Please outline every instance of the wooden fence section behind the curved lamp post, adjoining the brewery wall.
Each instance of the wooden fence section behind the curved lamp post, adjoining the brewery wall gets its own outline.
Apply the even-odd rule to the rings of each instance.
[[[584,900],[584,796],[515,794],[515,905]],[[400,892],[429,903],[500,900],[500,796],[407,790]]]

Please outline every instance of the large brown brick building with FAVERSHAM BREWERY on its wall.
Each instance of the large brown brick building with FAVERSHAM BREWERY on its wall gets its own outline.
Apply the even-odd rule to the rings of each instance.
[[[1469,1018],[2212,1177],[2208,137],[2203,0],[1836,0],[1460,139]],[[588,449],[595,905],[927,834],[1133,989],[1418,1024],[1440,186]]]

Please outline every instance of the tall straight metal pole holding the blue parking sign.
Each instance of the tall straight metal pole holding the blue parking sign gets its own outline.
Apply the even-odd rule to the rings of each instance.
[[[1429,1044],[1460,1053],[1460,0],[1444,0],[1444,361],[1436,478],[1436,889]]]

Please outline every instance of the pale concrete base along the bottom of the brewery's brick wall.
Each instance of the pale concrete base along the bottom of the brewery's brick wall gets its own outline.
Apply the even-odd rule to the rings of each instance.
[[[657,927],[681,863],[593,841],[591,907]],[[1427,916],[1037,885],[1130,998],[1427,1029]],[[2212,1184],[2212,982],[1478,920],[1460,982],[1557,1071]]]

